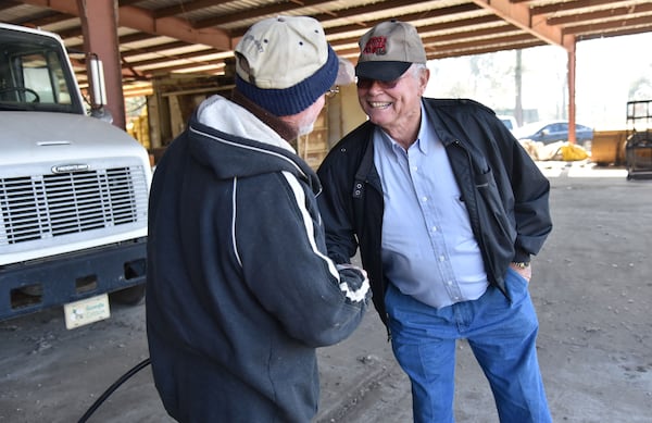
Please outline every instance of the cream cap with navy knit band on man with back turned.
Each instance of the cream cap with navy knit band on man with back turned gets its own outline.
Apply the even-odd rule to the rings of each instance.
[[[276,116],[304,111],[338,75],[337,54],[318,21],[308,16],[263,20],[235,52],[238,90]]]

